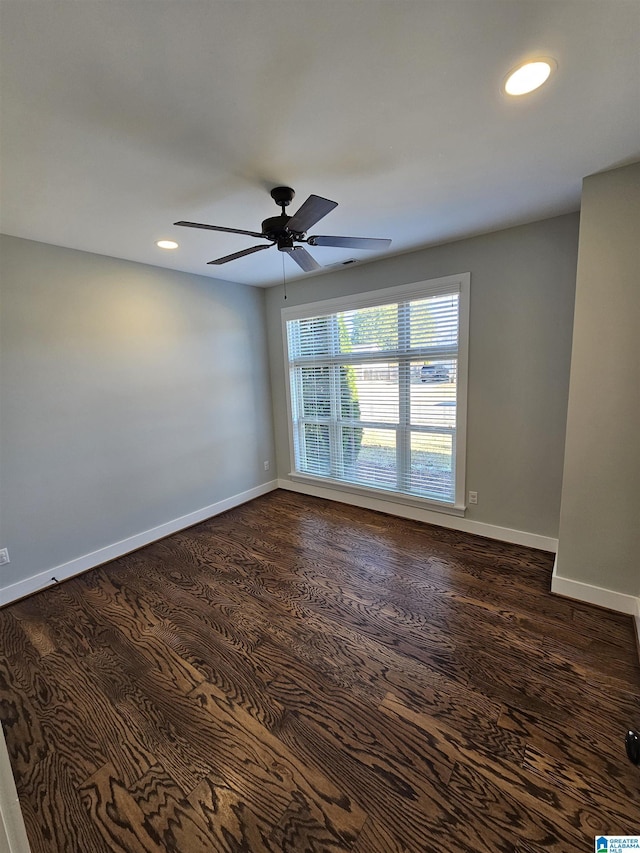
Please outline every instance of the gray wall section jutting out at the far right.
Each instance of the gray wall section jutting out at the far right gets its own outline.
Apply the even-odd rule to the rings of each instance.
[[[583,184],[557,573],[640,595],[640,164]]]

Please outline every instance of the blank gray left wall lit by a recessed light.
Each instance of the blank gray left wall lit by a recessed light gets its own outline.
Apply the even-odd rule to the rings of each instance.
[[[0,239],[0,587],[272,478],[264,291]]]

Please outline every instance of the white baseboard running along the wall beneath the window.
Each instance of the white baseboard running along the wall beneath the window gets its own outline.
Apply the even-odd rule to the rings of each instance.
[[[446,515],[442,512],[433,512],[421,507],[409,506],[381,498],[372,498],[368,495],[359,495],[353,492],[342,492],[337,489],[329,489],[310,483],[299,483],[293,480],[279,479],[278,488],[288,489],[290,492],[300,492],[304,495],[312,495],[317,498],[325,498],[329,501],[360,506],[363,509],[373,509],[376,512],[385,512],[387,515],[397,515],[401,518],[409,518],[412,521],[423,521],[425,524],[434,524],[438,527],[446,527],[450,530],[460,530],[463,533],[474,533],[477,536],[486,536],[487,539],[498,539],[501,542],[511,542],[514,545],[524,545],[527,548],[538,548],[541,551],[558,550],[558,540],[550,536],[541,536],[538,533],[527,533],[524,530],[513,530],[511,527],[498,527],[495,524],[485,524],[482,521],[471,521],[468,518],[459,518]]]

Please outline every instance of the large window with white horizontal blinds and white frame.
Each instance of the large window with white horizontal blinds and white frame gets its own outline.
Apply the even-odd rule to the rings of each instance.
[[[463,509],[469,278],[283,310],[293,476]]]

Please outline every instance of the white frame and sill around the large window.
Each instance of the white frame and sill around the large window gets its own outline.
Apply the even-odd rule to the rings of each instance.
[[[367,293],[357,293],[351,296],[341,296],[336,299],[327,299],[321,302],[310,302],[304,305],[296,305],[282,309],[282,340],[287,396],[287,425],[289,431],[289,478],[291,480],[300,483],[313,484],[314,486],[338,489],[340,491],[350,492],[356,495],[374,496],[381,500],[391,500],[411,506],[424,507],[436,512],[444,512],[449,515],[464,515],[464,511],[466,509],[465,484],[470,291],[471,274],[459,273],[457,275],[399,285],[398,287],[388,287],[381,290],[369,291]],[[358,308],[371,308],[377,305],[387,305],[391,302],[399,302],[406,299],[424,299],[429,296],[437,296],[438,294],[446,293],[459,294],[454,500],[452,502],[435,501],[428,498],[422,498],[417,495],[406,494],[405,492],[396,492],[389,489],[376,489],[370,486],[347,483],[343,480],[334,480],[330,477],[314,476],[313,474],[296,471],[287,322],[290,320],[303,320],[309,317],[335,314],[341,311],[355,310]]]

